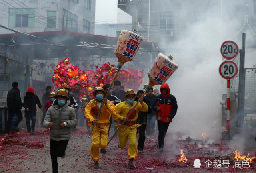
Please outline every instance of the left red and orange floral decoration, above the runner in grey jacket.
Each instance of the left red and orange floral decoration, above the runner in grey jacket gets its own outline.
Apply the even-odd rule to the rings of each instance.
[[[86,72],[69,63],[69,58],[65,58],[56,67],[53,69],[54,75],[52,75],[52,83],[55,83],[56,87],[60,88],[64,83],[68,84],[70,88],[74,88],[76,83],[81,84],[81,89],[89,86]]]

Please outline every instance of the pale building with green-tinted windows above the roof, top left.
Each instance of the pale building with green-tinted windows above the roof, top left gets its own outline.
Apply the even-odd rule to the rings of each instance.
[[[95,0],[0,2],[1,24],[21,32],[74,31],[94,34]],[[1,28],[0,33],[13,33]]]

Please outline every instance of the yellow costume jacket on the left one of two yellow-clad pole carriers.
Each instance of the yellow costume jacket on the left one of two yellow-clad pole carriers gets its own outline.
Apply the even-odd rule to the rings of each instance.
[[[88,126],[92,126],[92,121],[94,120],[94,118],[97,117],[99,111],[100,108],[98,101],[96,99],[90,100],[90,102],[86,105],[84,109],[84,115],[88,120]],[[110,116],[112,116],[116,121],[124,119],[116,112],[115,105],[108,100],[108,103],[106,105],[103,105],[103,108],[100,112],[97,126],[101,128],[108,128]]]

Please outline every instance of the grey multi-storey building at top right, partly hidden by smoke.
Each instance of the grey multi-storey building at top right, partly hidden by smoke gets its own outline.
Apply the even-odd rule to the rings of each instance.
[[[132,29],[145,41],[158,42],[163,48],[209,18],[235,19],[240,23],[238,32],[248,20],[256,31],[256,0],[118,0],[118,8],[132,16]]]

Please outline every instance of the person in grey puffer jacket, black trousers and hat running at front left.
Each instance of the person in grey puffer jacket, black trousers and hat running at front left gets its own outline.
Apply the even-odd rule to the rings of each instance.
[[[54,104],[46,112],[44,128],[50,128],[52,172],[58,173],[58,157],[66,156],[71,131],[76,125],[76,114],[66,103],[69,97],[65,89],[58,90],[54,98]]]

